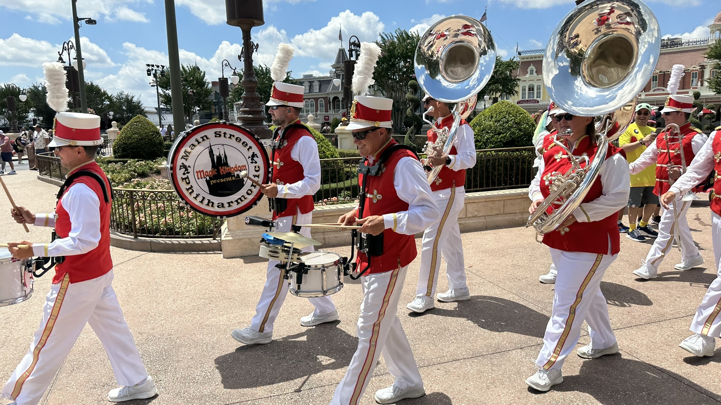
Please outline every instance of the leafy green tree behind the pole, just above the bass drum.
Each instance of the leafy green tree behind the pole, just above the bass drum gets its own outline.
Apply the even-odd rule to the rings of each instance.
[[[205,78],[205,72],[195,65],[180,66],[180,82],[182,83],[183,112],[185,112],[187,122],[193,122],[193,114],[211,109],[213,106],[211,83]],[[161,104],[172,108],[170,73],[158,77],[158,86],[161,89]]]

